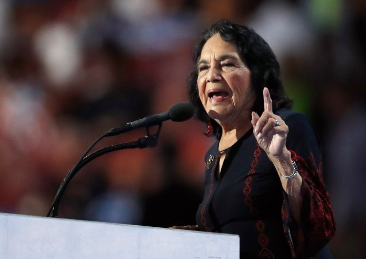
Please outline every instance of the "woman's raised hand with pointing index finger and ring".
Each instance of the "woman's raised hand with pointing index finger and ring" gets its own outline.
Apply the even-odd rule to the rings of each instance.
[[[268,156],[282,156],[287,151],[286,137],[288,127],[280,116],[272,111],[272,99],[268,88],[264,87],[264,112],[259,116],[252,112],[254,136],[259,146]]]

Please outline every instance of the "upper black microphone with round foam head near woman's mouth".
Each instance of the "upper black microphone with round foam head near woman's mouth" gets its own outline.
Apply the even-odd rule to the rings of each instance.
[[[147,116],[140,120],[122,124],[118,127],[109,129],[104,132],[103,136],[104,137],[115,136],[115,135],[121,134],[123,132],[130,131],[132,129],[138,129],[138,128],[143,128],[143,127],[147,128],[150,126],[158,125],[161,122],[167,121],[167,120],[172,120],[175,122],[186,121],[186,120],[192,118],[193,115],[194,115],[193,105],[188,102],[181,102],[181,103],[172,105],[168,111],[165,111],[165,112],[162,112],[159,114],[150,115],[150,116]]]

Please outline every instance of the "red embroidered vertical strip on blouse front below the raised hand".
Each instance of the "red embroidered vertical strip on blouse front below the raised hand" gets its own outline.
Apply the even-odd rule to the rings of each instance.
[[[249,194],[252,191],[250,184],[252,183],[252,180],[253,180],[253,177],[251,176],[251,174],[255,173],[255,168],[258,165],[258,157],[261,154],[261,148],[259,147],[258,142],[256,143],[256,145],[257,145],[257,149],[254,151],[254,160],[251,163],[251,169],[249,170],[248,177],[245,180],[246,185],[243,188],[243,194],[245,195],[245,199],[244,199],[245,204],[250,208],[249,209],[250,214],[253,216],[255,216],[258,213],[258,211],[256,208],[253,207],[253,199],[249,196]],[[259,237],[258,237],[258,243],[262,247],[262,250],[258,256],[260,258],[266,258],[266,259],[274,258],[272,252],[267,249],[269,239],[264,234],[265,225],[264,225],[263,221],[259,220],[257,222],[257,229],[260,232]]]

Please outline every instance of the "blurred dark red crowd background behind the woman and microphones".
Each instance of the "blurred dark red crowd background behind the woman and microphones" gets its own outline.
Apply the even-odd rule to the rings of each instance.
[[[366,258],[365,0],[0,0],[0,212],[45,216],[104,131],[186,101],[193,47],[220,19],[273,48],[294,109],[322,139],[333,256]],[[205,130],[167,121],[157,147],[97,158],[71,181],[60,217],[195,224]]]

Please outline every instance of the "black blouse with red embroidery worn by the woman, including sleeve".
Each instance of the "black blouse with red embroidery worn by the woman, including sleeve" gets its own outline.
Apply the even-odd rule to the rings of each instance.
[[[308,119],[288,109],[277,112],[289,127],[286,147],[303,178],[301,228],[297,238],[279,175],[249,130],[232,147],[217,141],[205,156],[205,192],[197,212],[202,231],[240,236],[241,258],[306,258],[334,235],[334,216],[321,176],[319,139]],[[221,173],[220,156],[225,153]],[[298,251],[297,247],[302,247]]]

